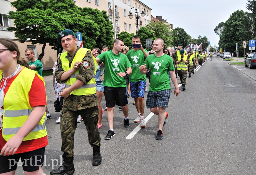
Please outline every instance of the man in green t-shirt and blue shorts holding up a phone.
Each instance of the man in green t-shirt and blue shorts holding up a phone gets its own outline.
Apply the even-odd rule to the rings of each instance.
[[[145,59],[148,57],[146,49],[142,48],[140,37],[134,36],[132,38],[132,44],[140,44],[140,48],[134,48],[127,52],[128,57],[132,65],[132,74],[130,75],[130,89],[131,96],[134,98],[135,107],[138,112],[138,117],[135,118],[134,122],[140,122],[140,127],[145,127],[144,121],[144,95],[146,90],[146,75],[140,73],[140,66],[143,65]]]

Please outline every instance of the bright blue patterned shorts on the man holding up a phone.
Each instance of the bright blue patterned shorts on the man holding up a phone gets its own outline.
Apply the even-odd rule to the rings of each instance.
[[[132,98],[143,97],[145,95],[146,81],[130,82]]]

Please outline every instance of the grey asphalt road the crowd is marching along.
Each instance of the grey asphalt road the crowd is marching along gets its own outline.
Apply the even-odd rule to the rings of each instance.
[[[256,74],[256,69],[253,70]],[[180,82],[178,78],[178,82]],[[44,173],[60,166],[60,127],[55,120],[52,81],[46,81],[47,104],[52,118],[47,120],[49,144],[45,151]],[[147,86],[149,88],[149,86]],[[171,85],[172,90],[174,86]],[[75,133],[75,174],[256,174],[256,81],[220,57],[197,67],[187,78],[186,91],[171,94],[164,139],[155,139],[158,117],[131,139],[126,137],[139,125],[133,99],[129,101],[130,127],[124,128],[123,113],[114,110],[116,136],[104,140],[108,132],[107,113],[100,128],[102,163],[92,166],[92,148],[84,123]],[[145,97],[148,92],[146,92]],[[146,99],[146,98],[145,98]],[[103,97],[102,107],[105,107]],[[146,108],[146,107],[145,107]],[[17,174],[22,174],[18,167]]]

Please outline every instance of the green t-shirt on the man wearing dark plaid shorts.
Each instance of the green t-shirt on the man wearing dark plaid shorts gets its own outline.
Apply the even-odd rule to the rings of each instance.
[[[166,54],[161,57],[156,57],[155,54],[149,55],[144,62],[145,64],[147,69],[150,69],[150,91],[171,89],[168,72],[174,70],[172,57]]]

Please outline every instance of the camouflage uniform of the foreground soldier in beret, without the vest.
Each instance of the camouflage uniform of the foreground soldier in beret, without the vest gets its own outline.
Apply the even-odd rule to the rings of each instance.
[[[77,50],[80,49],[78,47]],[[76,55],[76,52],[71,57],[69,54],[66,58],[69,60],[69,67]],[[85,54],[84,58],[81,58],[81,62],[88,61],[90,66],[84,68],[82,64],[79,65],[79,74],[76,75],[77,80],[84,82],[84,85],[89,82],[95,70],[95,64],[93,61],[92,53],[90,50]],[[62,73],[65,71],[62,69],[61,60],[56,65],[55,75],[58,83],[65,83],[68,81],[60,81]],[[84,125],[86,126],[88,133],[88,140],[92,147],[100,146],[100,132],[97,126],[98,123],[98,98],[96,94],[92,95],[69,95],[64,97],[63,107],[60,116],[60,133],[61,133],[61,151],[67,157],[74,156],[74,134],[77,127],[77,117],[81,115],[84,119]]]

